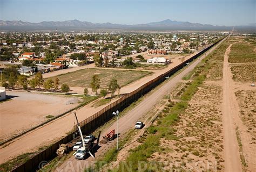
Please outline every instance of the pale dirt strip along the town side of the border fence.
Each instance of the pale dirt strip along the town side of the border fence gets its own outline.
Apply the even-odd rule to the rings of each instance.
[[[192,56],[192,55],[191,55]],[[186,56],[188,58],[188,56]],[[163,70],[157,70],[156,73],[153,73],[152,75],[148,75],[146,77],[140,78],[140,80],[133,82],[131,84],[126,85],[121,89],[121,93],[123,92],[131,92],[144,83],[148,82],[149,80],[152,80],[153,78],[161,75],[167,70],[170,70],[177,64],[181,62],[181,59],[177,59],[176,61],[173,61],[173,63],[169,64],[169,66]],[[192,70],[193,68],[188,68],[187,70]],[[64,70],[65,71],[65,70]],[[43,75],[44,78],[46,75]],[[51,77],[56,76],[55,74],[52,74]],[[167,89],[167,88],[166,88]],[[166,90],[165,90],[166,91]],[[153,98],[154,99],[154,98]],[[114,99],[113,101],[116,101]],[[96,113],[97,111],[103,109],[107,104],[103,106],[98,107],[92,107],[92,104],[88,104],[84,107],[81,107],[77,112],[78,120],[82,121],[87,117],[90,117],[92,114]],[[145,104],[145,108],[148,109],[150,105],[148,105],[148,102]],[[136,119],[134,119],[136,120]],[[70,123],[70,121],[72,121]],[[66,132],[69,132],[73,128],[73,121],[74,117],[72,113],[69,113],[55,121],[52,121],[51,123],[42,126],[38,128],[37,130],[25,134],[22,138],[19,138],[17,140],[14,140],[6,147],[1,147],[0,155],[2,157],[1,163],[7,161],[11,157],[15,157],[21,153],[25,152],[31,152],[37,150],[39,147],[43,147],[46,145],[49,145],[52,141],[57,140],[60,137],[63,137]],[[40,137],[40,135],[44,134],[44,138]],[[41,139],[38,139],[41,138]],[[35,141],[37,140],[37,141]],[[39,141],[39,142],[38,142]],[[24,146],[26,145],[26,146]]]

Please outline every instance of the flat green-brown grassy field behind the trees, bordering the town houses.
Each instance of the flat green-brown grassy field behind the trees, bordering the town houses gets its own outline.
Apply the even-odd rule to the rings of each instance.
[[[89,87],[93,75],[99,75],[100,87],[108,88],[108,84],[112,78],[117,79],[118,84],[123,87],[129,83],[139,80],[146,75],[149,71],[138,70],[110,70],[110,69],[82,69],[73,71],[71,73],[61,74],[56,77],[59,78],[60,84],[68,84],[70,87]],[[55,77],[53,77],[54,79]]]

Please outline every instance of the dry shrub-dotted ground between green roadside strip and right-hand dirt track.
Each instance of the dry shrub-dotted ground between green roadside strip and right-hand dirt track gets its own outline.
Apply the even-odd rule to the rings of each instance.
[[[173,163],[177,166],[173,169],[185,171],[223,170],[220,99],[220,87],[199,87],[185,113],[169,127],[169,137],[160,140],[160,151],[153,153],[149,161]]]

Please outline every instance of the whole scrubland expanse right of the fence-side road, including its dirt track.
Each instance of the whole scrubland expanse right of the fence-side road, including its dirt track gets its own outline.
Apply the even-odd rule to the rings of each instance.
[[[223,42],[205,63],[191,72],[189,80],[179,83],[180,92],[165,103],[153,125],[143,133],[135,133],[129,146],[104,168],[120,171],[126,167],[125,162],[131,162],[133,169],[134,161],[138,169],[138,161],[146,160],[144,169],[255,171],[256,89],[246,76],[253,76],[256,56],[255,52],[251,56],[253,51],[246,51],[248,47],[243,49],[248,52],[247,57],[243,56],[246,52],[237,52],[239,46],[233,47],[244,42],[255,50],[255,45],[251,46],[255,40],[248,43],[244,37],[233,36]],[[240,72],[232,70],[233,66],[240,68]],[[173,104],[186,101],[184,93],[187,96],[190,84],[201,81],[185,111],[176,119]],[[145,138],[138,140],[139,135]]]

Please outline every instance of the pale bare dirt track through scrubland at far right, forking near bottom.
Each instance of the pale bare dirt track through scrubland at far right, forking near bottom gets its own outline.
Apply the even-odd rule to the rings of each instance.
[[[231,44],[228,46],[224,56],[223,65],[223,121],[224,121],[224,159],[225,171],[242,171],[240,153],[245,156],[246,169],[256,171],[256,147],[251,144],[250,134],[239,117],[239,105],[235,97],[235,91],[239,84],[233,82],[228,54],[231,51]],[[244,87],[244,90],[246,87]],[[252,89],[252,88],[250,88]],[[235,128],[238,127],[242,152],[239,153],[239,146]]]

